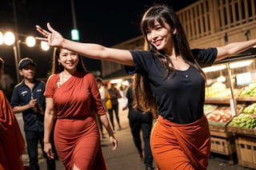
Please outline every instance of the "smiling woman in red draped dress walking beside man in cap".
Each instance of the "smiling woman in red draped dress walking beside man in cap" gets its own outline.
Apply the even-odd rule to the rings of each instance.
[[[94,76],[86,72],[78,53],[55,49],[53,71],[46,83],[44,150],[50,158],[50,132],[54,118],[54,144],[66,169],[106,169],[95,117],[110,135],[112,149],[117,140],[110,128]]]

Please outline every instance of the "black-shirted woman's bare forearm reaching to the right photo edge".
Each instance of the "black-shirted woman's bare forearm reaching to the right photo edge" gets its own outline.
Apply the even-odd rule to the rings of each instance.
[[[246,49],[250,49],[254,45],[256,45],[256,39],[252,39],[246,42],[232,42],[228,45],[217,47],[218,55],[216,61],[235,55],[237,53],[241,53]]]

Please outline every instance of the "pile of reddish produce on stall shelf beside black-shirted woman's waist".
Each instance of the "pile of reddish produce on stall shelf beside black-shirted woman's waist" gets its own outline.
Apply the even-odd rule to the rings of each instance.
[[[220,107],[213,112],[207,113],[206,117],[208,121],[226,123],[233,117],[229,107]]]

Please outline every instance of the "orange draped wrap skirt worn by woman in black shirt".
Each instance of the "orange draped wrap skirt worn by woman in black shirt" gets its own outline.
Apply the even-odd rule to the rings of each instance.
[[[158,118],[151,135],[158,170],[204,170],[210,156],[210,129],[205,116],[180,125]]]

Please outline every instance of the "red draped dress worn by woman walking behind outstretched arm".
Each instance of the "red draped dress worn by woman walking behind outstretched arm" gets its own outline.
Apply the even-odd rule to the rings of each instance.
[[[59,73],[49,77],[45,96],[54,99],[54,144],[60,160],[66,169],[106,169],[95,121],[95,113],[106,111],[94,76],[76,72],[62,85],[58,82]]]

